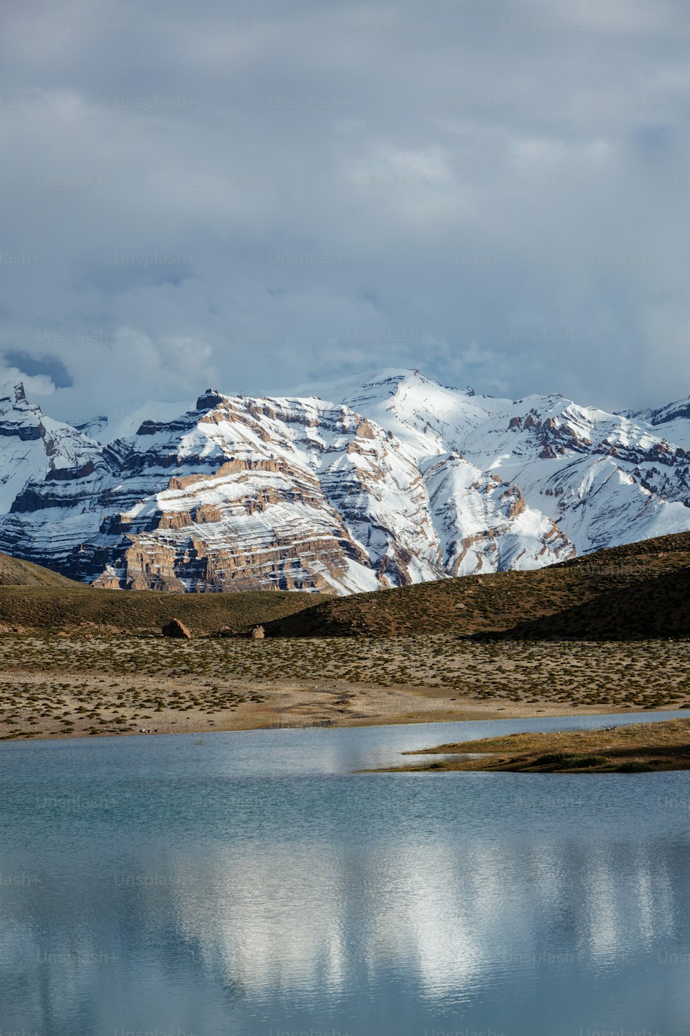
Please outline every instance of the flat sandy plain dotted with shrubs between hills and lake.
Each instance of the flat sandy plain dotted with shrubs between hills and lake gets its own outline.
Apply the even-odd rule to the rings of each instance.
[[[687,641],[0,636],[0,739],[690,708]]]

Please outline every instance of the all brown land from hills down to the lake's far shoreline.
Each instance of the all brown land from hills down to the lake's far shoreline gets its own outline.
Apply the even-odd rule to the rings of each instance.
[[[0,556],[0,576],[26,577],[13,565]],[[499,716],[690,709],[688,566],[683,534],[538,572],[316,604],[280,592],[96,591],[48,573],[0,587],[0,737],[228,726],[253,706],[252,725],[414,721],[434,694],[447,718],[460,710],[451,702]],[[193,640],[161,636],[173,617]],[[267,637],[249,639],[258,624]],[[264,708],[290,682],[299,700]],[[396,713],[371,706],[380,689],[399,692]]]

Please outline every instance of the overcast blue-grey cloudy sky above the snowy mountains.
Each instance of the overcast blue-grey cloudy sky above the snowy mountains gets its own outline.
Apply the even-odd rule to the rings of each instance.
[[[687,5],[3,22],[0,376],[48,412],[384,367],[607,408],[690,393]]]

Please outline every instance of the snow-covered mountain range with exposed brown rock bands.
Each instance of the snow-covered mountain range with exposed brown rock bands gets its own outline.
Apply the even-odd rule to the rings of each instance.
[[[0,550],[99,586],[347,594],[690,529],[690,400],[611,414],[418,371],[70,426],[0,392]]]

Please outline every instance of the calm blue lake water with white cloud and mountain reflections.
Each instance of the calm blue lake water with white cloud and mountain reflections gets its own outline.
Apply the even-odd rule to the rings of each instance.
[[[687,1036],[689,773],[351,773],[672,715],[3,744],[0,1031]]]

